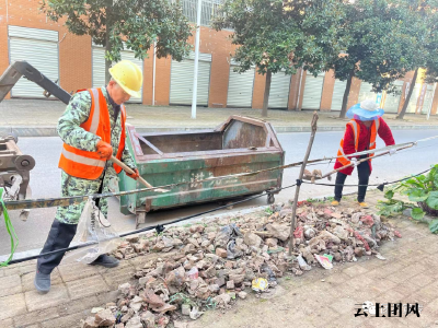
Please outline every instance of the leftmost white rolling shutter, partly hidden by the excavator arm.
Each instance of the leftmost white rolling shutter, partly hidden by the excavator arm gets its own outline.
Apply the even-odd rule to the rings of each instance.
[[[51,81],[59,79],[58,32],[10,25],[9,61],[25,60]],[[11,90],[13,97],[45,98],[44,90],[20,79]]]

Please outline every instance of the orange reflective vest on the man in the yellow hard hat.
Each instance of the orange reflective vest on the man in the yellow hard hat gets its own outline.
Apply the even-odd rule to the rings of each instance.
[[[100,87],[89,89],[88,92],[91,94],[90,116],[83,124],[80,125],[80,127],[85,131],[101,137],[103,141],[111,144],[111,121],[108,107],[106,106],[106,98]],[[126,139],[126,109],[124,105],[120,106],[120,115],[122,134],[116,155],[118,160],[122,159]],[[102,160],[96,152],[80,150],[64,143],[58,166],[68,175],[78,178],[95,180],[102,175],[105,164],[106,160]],[[116,164],[113,164],[113,166],[117,174],[120,173],[122,167]]]

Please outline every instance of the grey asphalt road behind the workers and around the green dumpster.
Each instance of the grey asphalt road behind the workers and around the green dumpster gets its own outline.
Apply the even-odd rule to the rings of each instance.
[[[437,134],[435,130],[405,130],[393,131],[396,143],[414,141]],[[286,151],[286,163],[301,161],[309,142],[310,133],[284,133],[278,134],[280,143]],[[333,156],[336,154],[343,132],[320,132],[316,133],[311,159]],[[383,147],[383,142],[378,140],[378,148]],[[31,173],[32,198],[46,198],[60,196],[60,172],[58,169],[58,159],[61,150],[59,138],[21,138],[19,147],[23,153],[31,154],[36,161],[36,166]],[[414,149],[402,151],[393,156],[384,156],[373,161],[373,172],[370,184],[391,181],[406,175],[427,169],[430,164],[438,163],[438,139],[418,143]],[[311,166],[320,168],[323,173],[333,168],[333,163]],[[284,186],[295,184],[298,177],[298,168],[289,168],[284,174]],[[326,180],[325,180],[326,181]],[[333,183],[333,181],[332,181]],[[356,173],[346,181],[357,184]],[[355,191],[356,188],[345,188],[345,191]],[[283,190],[276,196],[276,201],[287,202],[293,198],[295,188]],[[303,185],[301,187],[300,199],[323,197],[333,195],[332,187]],[[235,206],[234,210],[245,209],[266,204],[266,198],[260,198]],[[218,207],[218,203],[193,206],[174,210],[153,212],[148,214],[147,222],[150,225],[169,222],[177,218],[198,213]],[[54,220],[55,208],[35,209],[31,211],[27,222],[19,220],[19,212],[11,211],[10,216],[19,236],[20,244],[16,251],[26,251],[42,248],[47,237],[50,224]],[[216,213],[228,212],[222,210]],[[118,210],[118,200],[110,200],[110,221],[117,231],[127,232],[135,229],[135,216],[123,215]],[[10,238],[4,227],[3,219],[0,222],[0,256],[10,251]]]

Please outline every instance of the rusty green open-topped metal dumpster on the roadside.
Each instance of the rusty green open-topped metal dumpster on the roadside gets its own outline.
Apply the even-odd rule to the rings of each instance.
[[[127,125],[127,144],[140,175],[152,186],[178,183],[170,192],[120,197],[120,211],[136,214],[137,225],[153,210],[268,192],[281,187],[283,171],[198,183],[208,177],[251,173],[284,164],[285,152],[269,122],[231,116],[212,130],[138,133]],[[120,174],[120,191],[142,188]]]

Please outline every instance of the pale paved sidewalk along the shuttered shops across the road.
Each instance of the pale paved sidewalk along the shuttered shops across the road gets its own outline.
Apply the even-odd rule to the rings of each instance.
[[[54,137],[59,116],[66,106],[59,101],[9,99],[0,103],[0,136],[11,131],[22,137]],[[197,118],[191,118],[191,107],[127,105],[128,122],[139,132],[211,129],[230,115],[262,118],[261,109],[197,108]],[[319,131],[342,131],[348,119],[339,119],[338,112],[319,112]],[[278,133],[310,131],[312,112],[269,109],[267,120]],[[392,129],[438,129],[438,116],[426,120],[424,115],[406,115],[396,120],[394,114],[384,116]]]

